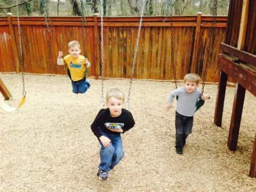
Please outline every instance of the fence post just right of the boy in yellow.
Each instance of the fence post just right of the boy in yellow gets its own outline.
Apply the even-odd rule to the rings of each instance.
[[[100,76],[100,42],[99,42],[99,30],[98,30],[98,13],[94,13],[94,65],[95,65],[95,78]]]

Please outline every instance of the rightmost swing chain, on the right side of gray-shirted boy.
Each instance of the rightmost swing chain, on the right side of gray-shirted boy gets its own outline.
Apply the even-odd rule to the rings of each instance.
[[[207,59],[205,61],[205,67],[203,68],[202,76],[203,76],[203,83],[202,83],[202,94],[204,93],[204,86],[205,86],[205,80],[206,80],[206,70],[208,68],[208,63],[210,62],[210,58],[213,57],[213,46],[215,42],[216,37],[216,20],[217,20],[217,11],[218,11],[218,0],[213,0],[213,5],[211,7],[212,15],[213,15],[213,23],[209,31],[209,37],[208,41],[206,43],[206,49],[207,49]],[[212,45],[210,45],[212,44]],[[212,58],[213,59],[213,58]]]

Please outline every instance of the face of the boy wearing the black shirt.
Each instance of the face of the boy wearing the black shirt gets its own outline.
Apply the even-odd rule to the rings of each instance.
[[[107,101],[107,107],[110,110],[111,117],[118,117],[122,113],[124,102],[115,97],[110,97]]]

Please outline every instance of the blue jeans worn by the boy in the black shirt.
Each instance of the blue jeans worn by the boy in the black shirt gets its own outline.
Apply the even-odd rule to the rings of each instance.
[[[105,137],[111,140],[108,147],[104,147],[100,142],[100,164],[99,170],[110,171],[124,157],[124,150],[121,135],[102,133]]]

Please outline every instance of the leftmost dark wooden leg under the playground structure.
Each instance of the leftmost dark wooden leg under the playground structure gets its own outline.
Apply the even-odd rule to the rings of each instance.
[[[228,76],[223,71],[220,71],[219,83],[218,83],[218,93],[215,103],[215,113],[214,113],[214,123],[217,126],[221,126],[223,107],[225,100],[225,93],[227,87]]]

